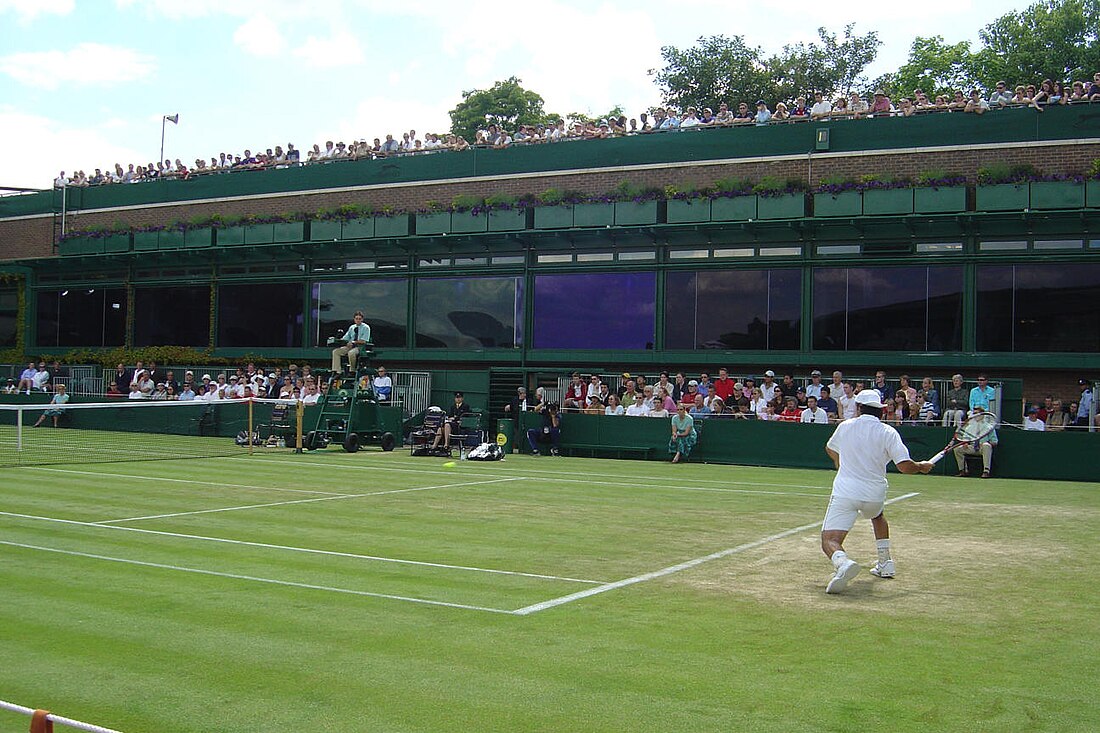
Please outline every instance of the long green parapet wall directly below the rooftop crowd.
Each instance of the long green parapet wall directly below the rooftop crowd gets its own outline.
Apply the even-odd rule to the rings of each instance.
[[[1048,107],[977,114],[926,114],[914,118],[834,120],[770,127],[723,128],[659,133],[508,150],[409,155],[378,161],[344,161],[280,171],[244,171],[157,180],[138,185],[67,190],[68,209],[99,209],[226,196],[250,196],[340,186],[506,176],[619,165],[711,161],[772,155],[804,155],[815,150],[816,130],[831,131],[828,152],[926,147],[944,144],[1072,140],[1100,136],[1100,114],[1091,106]],[[59,210],[55,192],[0,198],[0,218]]]

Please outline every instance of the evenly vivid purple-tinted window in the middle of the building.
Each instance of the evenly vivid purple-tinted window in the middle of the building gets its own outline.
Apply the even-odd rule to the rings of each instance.
[[[535,348],[652,349],[657,275],[593,273],[535,278]]]

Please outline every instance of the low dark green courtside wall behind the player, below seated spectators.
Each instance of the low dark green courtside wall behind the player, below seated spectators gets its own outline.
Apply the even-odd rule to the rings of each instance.
[[[520,415],[522,431],[516,445],[529,452],[526,429],[539,427],[538,415]],[[833,469],[825,455],[825,442],[834,426],[801,423],[762,423],[757,420],[710,418],[695,423],[698,444],[693,461],[779,468]],[[915,460],[931,458],[950,439],[952,430],[942,427],[902,425],[898,428]],[[600,415],[564,415],[561,446],[570,452],[583,448],[587,455],[613,455],[614,449],[601,446],[648,446],[654,460],[669,460],[671,423],[669,419],[607,417]],[[1100,436],[1089,433],[1031,433],[1014,428],[998,431],[1000,444],[993,451],[993,477],[998,479],[1032,479],[1062,481],[1100,481],[1093,457]],[[958,468],[947,456],[936,468],[937,473],[954,474]]]

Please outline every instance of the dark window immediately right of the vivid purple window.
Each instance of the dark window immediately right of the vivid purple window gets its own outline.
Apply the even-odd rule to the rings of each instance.
[[[664,348],[798,349],[798,270],[672,272],[664,280]]]

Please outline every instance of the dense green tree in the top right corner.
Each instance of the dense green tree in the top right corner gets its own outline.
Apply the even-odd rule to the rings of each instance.
[[[982,85],[1087,79],[1100,69],[1100,0],[1045,0],[1001,15],[979,32]]]

